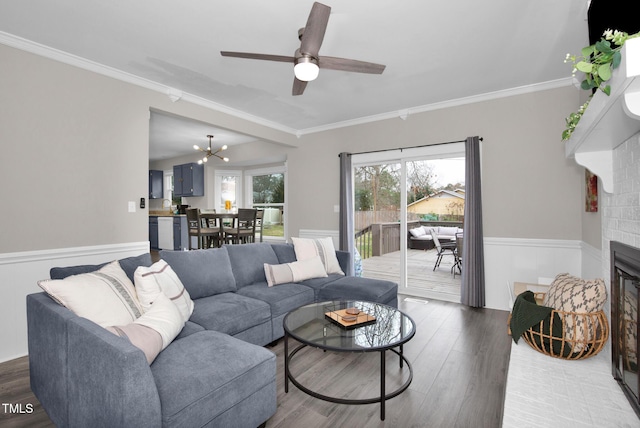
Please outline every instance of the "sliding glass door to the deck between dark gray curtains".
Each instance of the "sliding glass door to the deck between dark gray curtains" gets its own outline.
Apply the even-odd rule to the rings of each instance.
[[[464,144],[354,154],[352,164],[363,276],[398,282],[403,294],[458,302],[455,252],[438,250],[431,231],[450,245],[462,228]]]

